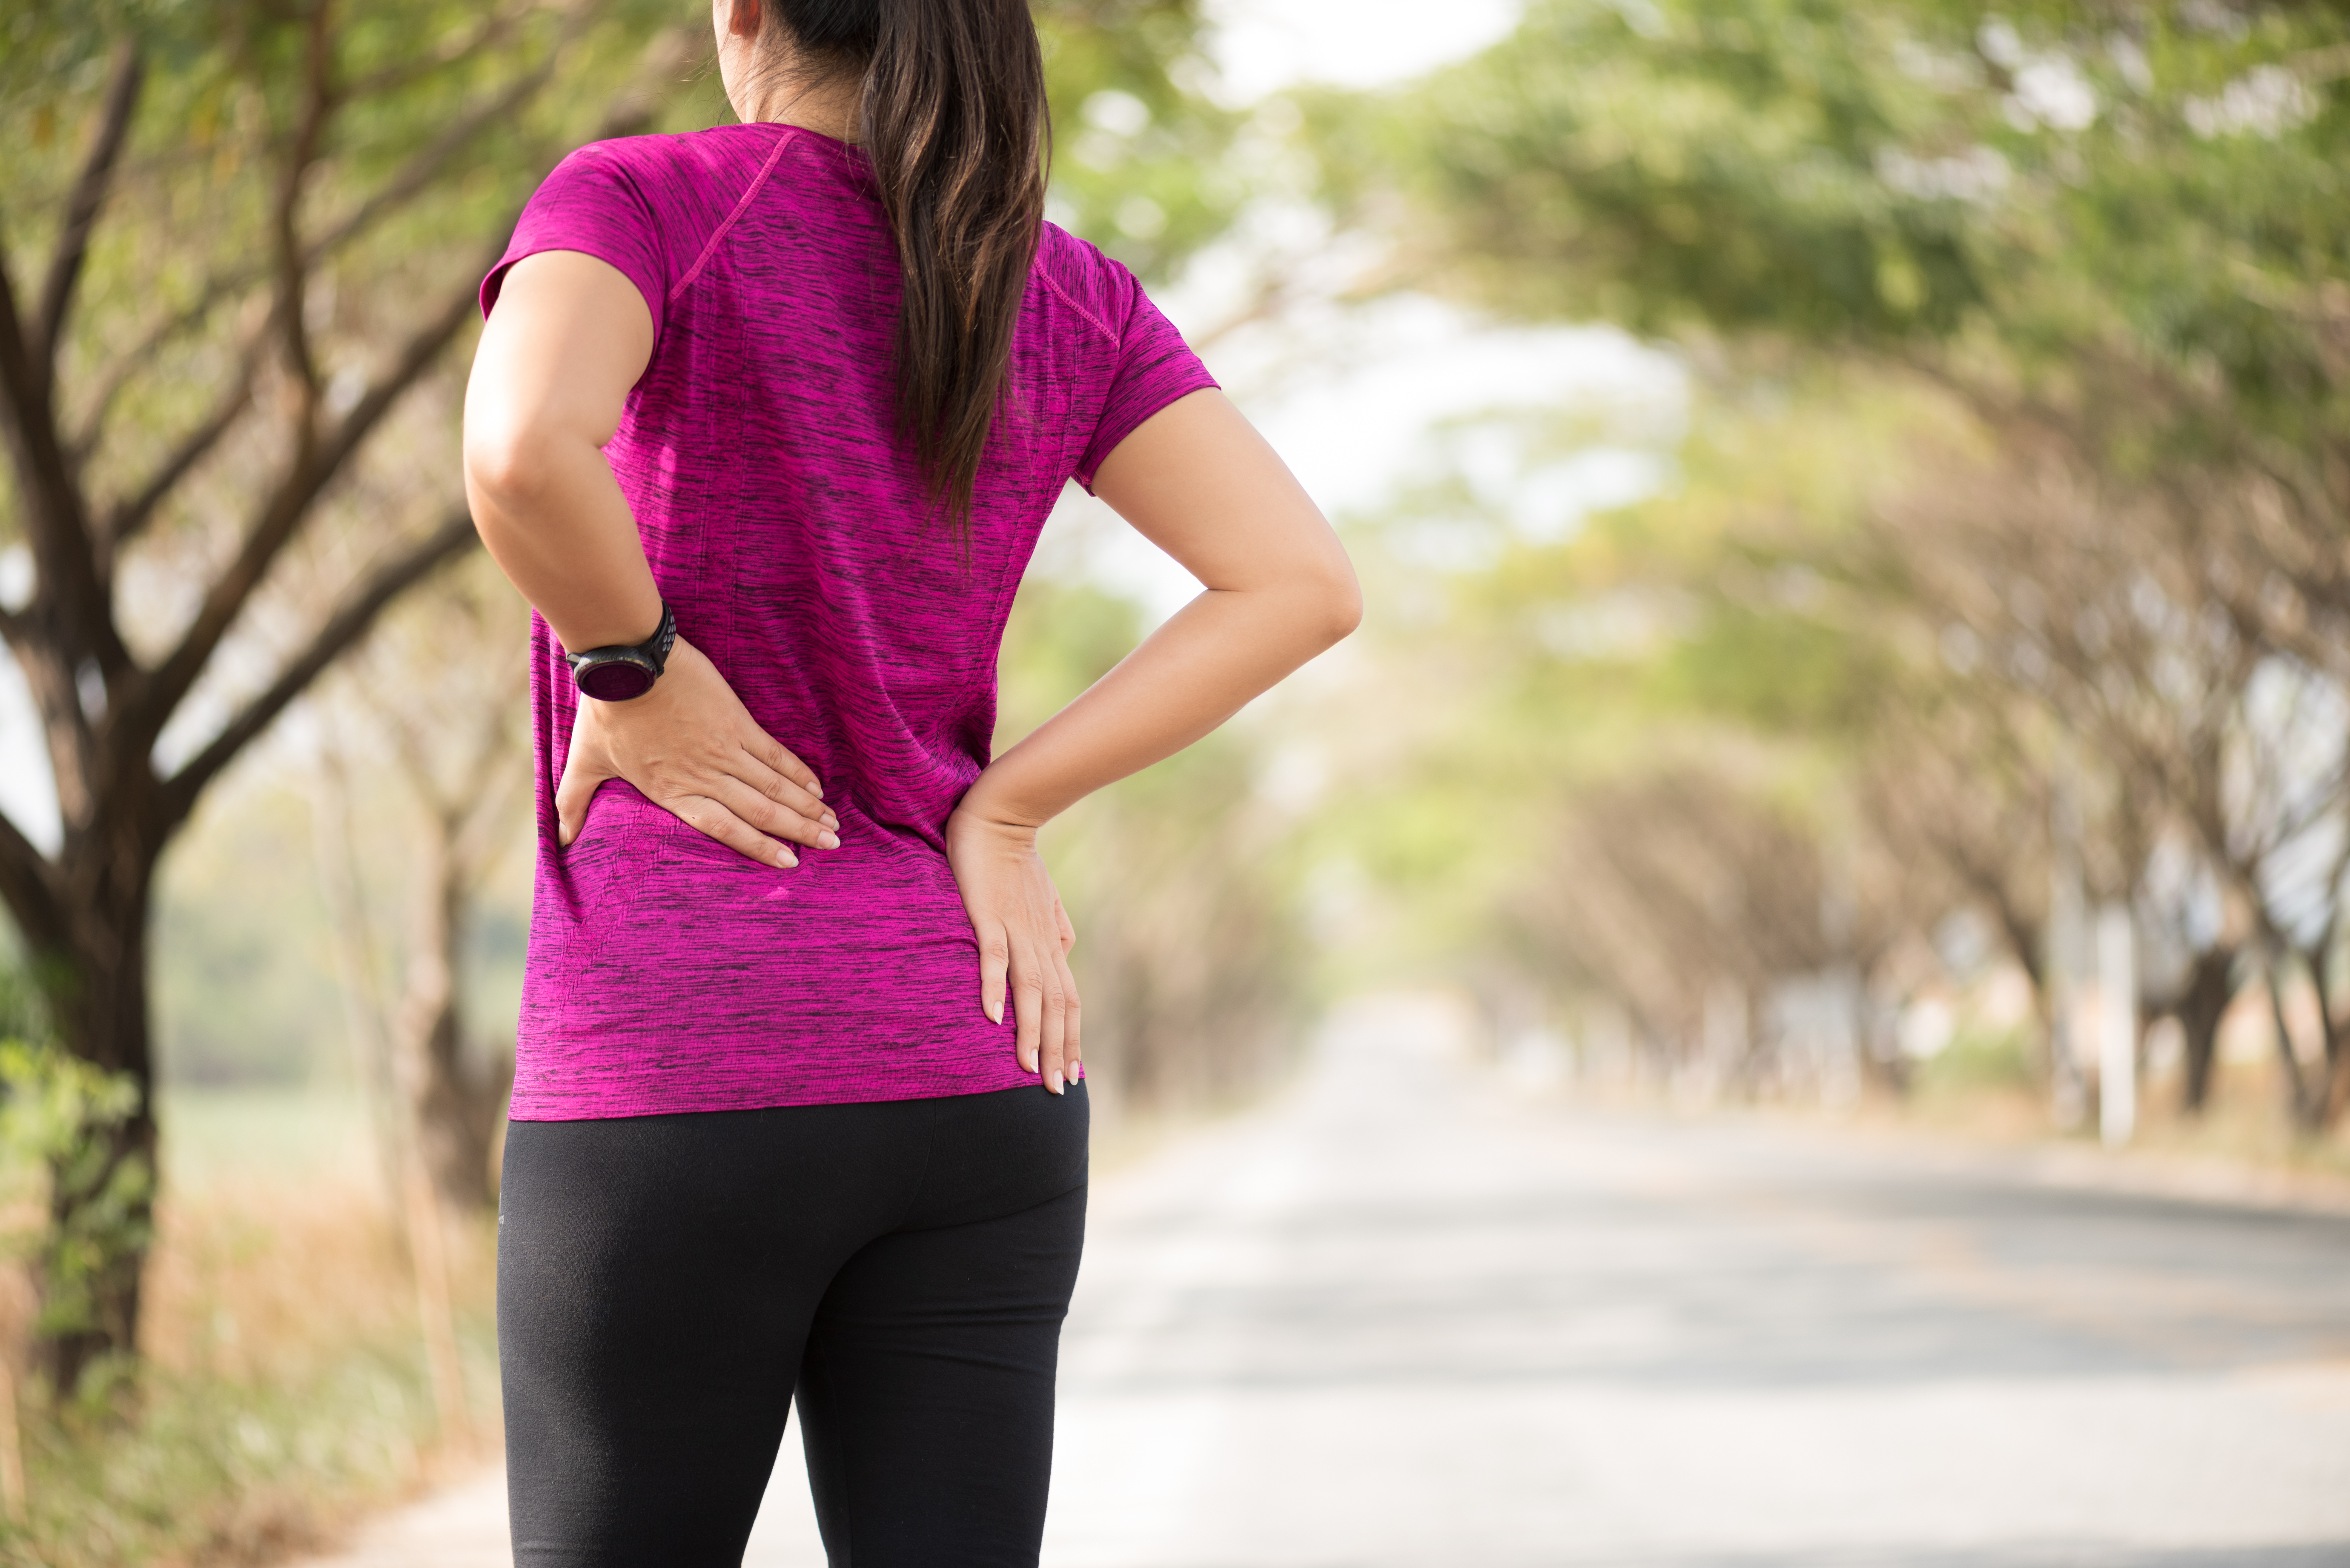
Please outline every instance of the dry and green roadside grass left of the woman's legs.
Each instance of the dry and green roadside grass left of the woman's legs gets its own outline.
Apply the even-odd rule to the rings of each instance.
[[[494,1222],[446,1227],[465,1429],[432,1408],[402,1232],[352,1105],[164,1100],[136,1380],[56,1408],[21,1378],[31,1291],[0,1293],[19,1368],[26,1519],[7,1568],[244,1568],[496,1446]]]

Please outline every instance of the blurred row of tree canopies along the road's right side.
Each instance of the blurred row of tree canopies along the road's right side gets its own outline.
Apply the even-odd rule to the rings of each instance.
[[[1828,961],[1760,964],[1737,900],[1676,938],[1671,877],[1603,886],[1572,849],[1492,879],[1544,893],[1492,905],[1544,961],[1605,950],[1577,919],[1650,919],[1676,1018],[1626,959],[1574,983],[1692,1053],[1720,973],[1762,1048],[1767,987],[1845,964],[1899,999],[1972,910],[2063,1072],[2070,903],[2131,900],[2190,1105],[2235,985],[2298,973],[2319,1039],[2294,1048],[2280,997],[2280,1070],[2303,1126],[2341,1117],[2350,14],[1537,0],[1488,54],[1311,120],[1325,197],[1401,277],[1622,322],[1692,371],[1659,498],[1506,548],[1445,614],[1511,717],[1603,776],[1525,795],[1546,842],[1607,839],[1626,769],[1643,832],[1720,837],[1737,811],[1673,783],[1694,726],[1828,867]]]

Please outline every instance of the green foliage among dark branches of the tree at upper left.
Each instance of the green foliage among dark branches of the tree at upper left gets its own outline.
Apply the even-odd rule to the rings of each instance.
[[[28,7],[12,19],[0,136],[12,160],[7,261],[38,280],[63,193],[87,153],[108,59],[136,40],[148,80],[120,190],[96,230],[66,381],[136,371],[110,407],[122,447],[103,468],[167,451],[167,433],[235,371],[266,287],[282,155],[317,136],[298,202],[317,249],[310,331],[322,371],[374,369],[444,287],[463,282],[564,148],[588,139],[674,21],[656,0],[484,14],[439,0],[334,12],[329,113],[310,125],[308,9],[247,0]],[[564,92],[526,94],[545,71]],[[348,228],[348,237],[345,235]],[[150,357],[139,362],[146,350]]]

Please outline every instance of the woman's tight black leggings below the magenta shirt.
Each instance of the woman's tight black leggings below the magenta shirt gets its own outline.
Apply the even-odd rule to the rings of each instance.
[[[517,1121],[522,1568],[736,1568],[792,1399],[832,1568],[1036,1563],[1086,1091]]]

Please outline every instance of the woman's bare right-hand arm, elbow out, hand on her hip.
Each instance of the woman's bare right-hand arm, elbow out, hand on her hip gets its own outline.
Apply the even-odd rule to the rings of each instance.
[[[1079,1060],[1069,922],[1036,827],[1093,790],[1180,752],[1363,618],[1354,567],[1321,508],[1215,390],[1168,404],[1102,463],[1095,494],[1206,592],[980,773],[947,823],[980,936],[980,1004],[1060,1088]]]

